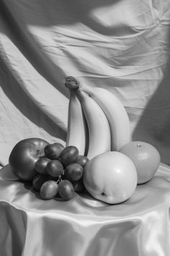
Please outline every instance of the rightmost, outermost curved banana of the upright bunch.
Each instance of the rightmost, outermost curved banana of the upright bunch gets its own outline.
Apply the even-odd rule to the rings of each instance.
[[[130,141],[130,120],[121,101],[104,88],[89,88],[89,86],[80,85],[80,89],[88,93],[104,111],[111,132],[111,150],[119,151]]]

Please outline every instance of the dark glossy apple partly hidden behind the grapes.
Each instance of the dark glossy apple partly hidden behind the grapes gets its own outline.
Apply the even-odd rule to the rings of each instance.
[[[44,155],[44,148],[48,144],[46,140],[40,138],[19,141],[9,155],[12,172],[23,181],[32,181],[36,174],[35,163]]]

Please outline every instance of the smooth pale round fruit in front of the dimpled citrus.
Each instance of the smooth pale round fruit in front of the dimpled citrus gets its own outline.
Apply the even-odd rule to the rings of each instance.
[[[128,200],[135,192],[137,180],[133,161],[117,151],[97,155],[84,168],[86,190],[109,204]]]

